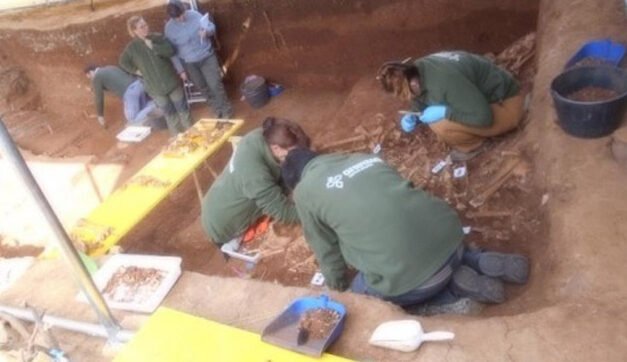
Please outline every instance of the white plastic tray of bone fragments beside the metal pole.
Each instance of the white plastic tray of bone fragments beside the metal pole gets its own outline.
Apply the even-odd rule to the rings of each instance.
[[[109,308],[134,312],[152,313],[159,307],[170,289],[181,275],[181,258],[177,256],[153,256],[116,254],[111,256],[105,264],[92,276],[96,287],[100,292],[107,286],[113,275],[122,267],[135,266],[139,268],[154,268],[164,273],[158,287],[149,295],[138,295],[137,300],[131,302],[119,302],[111,300],[103,294]],[[79,293],[79,300],[86,302],[83,293]]]

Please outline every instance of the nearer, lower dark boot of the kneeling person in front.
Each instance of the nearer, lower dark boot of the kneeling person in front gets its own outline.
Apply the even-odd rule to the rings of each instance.
[[[503,303],[505,289],[495,278],[480,275],[472,268],[462,265],[453,273],[451,290],[461,298],[467,297],[482,303]]]

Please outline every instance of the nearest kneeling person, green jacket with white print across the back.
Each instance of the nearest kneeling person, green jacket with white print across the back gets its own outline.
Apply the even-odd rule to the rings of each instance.
[[[502,280],[527,281],[526,257],[465,248],[456,212],[376,155],[296,148],[282,177],[294,189],[305,238],[332,289],[349,288],[349,265],[358,271],[353,292],[402,306],[441,293],[500,303]]]

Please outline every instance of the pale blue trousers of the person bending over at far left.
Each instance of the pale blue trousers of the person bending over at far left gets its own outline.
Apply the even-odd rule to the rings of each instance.
[[[132,125],[146,125],[151,121],[163,117],[163,112],[157,108],[153,100],[148,97],[144,83],[137,79],[126,88],[123,97],[124,117]]]

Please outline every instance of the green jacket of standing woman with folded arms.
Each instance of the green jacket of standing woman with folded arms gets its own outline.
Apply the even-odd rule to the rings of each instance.
[[[149,34],[148,39],[152,41],[152,49],[142,39],[131,40],[120,55],[120,67],[131,74],[139,72],[148,94],[164,96],[181,86],[170,60],[174,47],[161,34]]]

